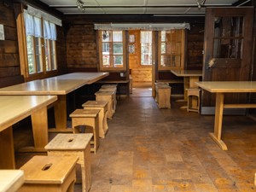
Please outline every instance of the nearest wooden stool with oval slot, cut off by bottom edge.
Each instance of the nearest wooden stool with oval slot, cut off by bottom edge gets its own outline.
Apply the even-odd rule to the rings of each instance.
[[[20,170],[25,182],[19,192],[73,192],[78,157],[34,156]]]

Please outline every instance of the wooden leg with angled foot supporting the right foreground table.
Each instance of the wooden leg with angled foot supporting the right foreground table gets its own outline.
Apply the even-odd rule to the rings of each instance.
[[[226,144],[221,140],[222,120],[224,110],[224,93],[216,93],[214,133],[209,133],[213,141],[223,150],[228,150]]]

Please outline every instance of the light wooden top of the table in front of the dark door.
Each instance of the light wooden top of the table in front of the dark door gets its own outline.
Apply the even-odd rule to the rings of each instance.
[[[256,92],[256,81],[200,81],[195,84],[212,93]]]

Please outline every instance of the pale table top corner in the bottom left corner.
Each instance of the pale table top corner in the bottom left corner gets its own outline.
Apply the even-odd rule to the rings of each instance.
[[[21,170],[0,170],[0,191],[17,191],[24,183],[24,172]]]

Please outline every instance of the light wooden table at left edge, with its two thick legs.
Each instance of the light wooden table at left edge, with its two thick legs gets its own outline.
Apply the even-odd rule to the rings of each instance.
[[[0,169],[15,169],[15,149],[12,125],[32,117],[34,147],[45,151],[48,143],[47,107],[57,96],[0,96]]]

